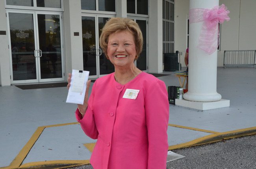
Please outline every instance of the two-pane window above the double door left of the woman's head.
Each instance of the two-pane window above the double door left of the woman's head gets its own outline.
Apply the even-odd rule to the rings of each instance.
[[[91,11],[115,12],[115,0],[81,0],[81,8]]]

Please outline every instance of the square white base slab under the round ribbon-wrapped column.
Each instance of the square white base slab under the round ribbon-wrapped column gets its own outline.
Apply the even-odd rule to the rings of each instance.
[[[193,102],[184,99],[175,99],[175,105],[197,110],[210,110],[230,106],[230,100],[221,99],[216,102]]]

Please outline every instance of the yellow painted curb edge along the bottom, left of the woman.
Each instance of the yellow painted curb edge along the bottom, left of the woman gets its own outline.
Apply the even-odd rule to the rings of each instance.
[[[89,160],[56,160],[56,161],[43,161],[31,162],[20,165],[19,169],[57,169],[71,167],[74,165],[90,164]]]

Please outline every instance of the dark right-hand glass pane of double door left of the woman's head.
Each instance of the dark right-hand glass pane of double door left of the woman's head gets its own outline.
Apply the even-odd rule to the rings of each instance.
[[[99,36],[101,35],[102,28],[106,24],[109,18],[98,18],[98,28],[99,28]],[[100,57],[100,75],[106,75],[109,73],[113,73],[115,71],[114,65],[106,58],[105,53],[103,53]]]

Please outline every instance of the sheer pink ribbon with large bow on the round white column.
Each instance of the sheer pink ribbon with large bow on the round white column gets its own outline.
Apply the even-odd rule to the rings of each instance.
[[[189,10],[189,23],[204,22],[198,40],[198,48],[204,50],[209,55],[212,54],[219,45],[218,24],[225,20],[229,21],[227,7],[222,4],[212,9],[194,8]],[[217,39],[218,38],[218,39]]]

